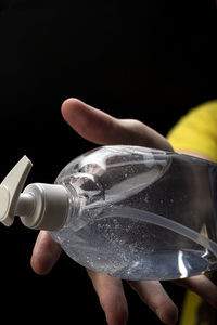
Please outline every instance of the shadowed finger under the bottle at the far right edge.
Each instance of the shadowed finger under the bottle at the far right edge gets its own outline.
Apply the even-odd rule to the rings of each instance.
[[[217,286],[205,275],[175,281],[176,284],[194,291],[204,300],[217,308]]]

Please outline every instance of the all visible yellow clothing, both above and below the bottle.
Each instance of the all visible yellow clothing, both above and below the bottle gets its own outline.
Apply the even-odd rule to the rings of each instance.
[[[195,152],[217,162],[217,100],[199,105],[180,118],[169,131],[167,140],[175,151]],[[199,310],[202,299],[187,291],[180,325],[208,325],[200,320]]]

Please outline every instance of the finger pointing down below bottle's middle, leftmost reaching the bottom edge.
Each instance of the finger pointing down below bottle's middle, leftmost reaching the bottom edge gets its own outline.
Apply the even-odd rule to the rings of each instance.
[[[87,271],[105,312],[107,324],[127,324],[128,307],[122,281],[106,274]]]

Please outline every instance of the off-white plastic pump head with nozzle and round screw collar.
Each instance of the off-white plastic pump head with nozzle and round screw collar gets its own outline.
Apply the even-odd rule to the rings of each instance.
[[[60,230],[67,218],[69,199],[62,185],[34,183],[23,193],[23,186],[33,164],[24,156],[0,185],[0,222],[12,225],[20,216],[30,229]]]

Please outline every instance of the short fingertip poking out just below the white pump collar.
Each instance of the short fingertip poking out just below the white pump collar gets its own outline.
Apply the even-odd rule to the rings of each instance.
[[[43,275],[51,271],[61,255],[62,248],[55,243],[49,232],[41,231],[36,240],[30,264],[33,270]]]

